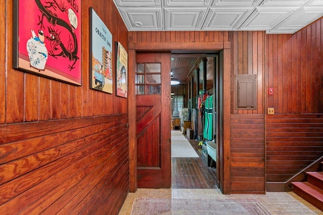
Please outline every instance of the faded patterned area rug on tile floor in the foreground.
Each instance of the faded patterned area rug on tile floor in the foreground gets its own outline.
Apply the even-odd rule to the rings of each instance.
[[[132,215],[198,215],[198,214],[271,214],[260,202],[253,199],[165,199],[137,198],[132,205]]]

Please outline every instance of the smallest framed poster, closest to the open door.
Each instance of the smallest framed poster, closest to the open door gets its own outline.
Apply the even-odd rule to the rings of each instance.
[[[128,53],[120,42],[116,47],[116,94],[127,98],[128,96]]]

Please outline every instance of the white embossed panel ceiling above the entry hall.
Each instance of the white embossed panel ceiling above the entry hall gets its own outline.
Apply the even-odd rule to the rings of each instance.
[[[295,33],[323,16],[323,0],[113,0],[129,31]]]

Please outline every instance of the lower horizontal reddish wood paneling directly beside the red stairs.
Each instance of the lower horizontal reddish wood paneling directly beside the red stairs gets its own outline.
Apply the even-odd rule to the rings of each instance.
[[[323,115],[266,115],[267,182],[293,177],[323,155],[322,143]]]

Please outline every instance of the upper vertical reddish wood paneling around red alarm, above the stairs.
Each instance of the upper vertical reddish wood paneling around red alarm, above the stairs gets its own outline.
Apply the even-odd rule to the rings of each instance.
[[[280,114],[323,113],[323,18],[293,35],[265,36],[266,107]],[[268,95],[274,88],[274,95]]]

